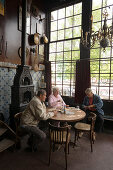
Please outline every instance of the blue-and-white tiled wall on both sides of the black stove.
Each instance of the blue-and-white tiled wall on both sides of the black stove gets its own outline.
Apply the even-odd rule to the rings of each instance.
[[[2,62],[0,63],[2,65]],[[13,66],[11,64],[11,66]],[[14,65],[15,66],[15,65]],[[42,76],[42,71],[34,72],[30,71],[34,92],[38,91],[39,83]],[[9,119],[9,105],[11,104],[11,86],[13,85],[16,69],[0,67],[0,112],[3,113],[5,121]]]

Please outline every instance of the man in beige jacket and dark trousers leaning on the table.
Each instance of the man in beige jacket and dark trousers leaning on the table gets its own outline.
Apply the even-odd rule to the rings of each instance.
[[[38,127],[39,122],[41,120],[47,120],[56,114],[55,111],[46,111],[44,104],[45,99],[46,91],[38,91],[37,95],[31,99],[21,116],[21,127],[25,132],[31,134],[28,144],[31,143],[34,150],[37,150],[37,144],[40,144],[46,138],[46,134]]]

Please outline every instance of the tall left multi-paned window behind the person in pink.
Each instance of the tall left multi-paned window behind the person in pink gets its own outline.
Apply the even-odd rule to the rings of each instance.
[[[75,66],[76,60],[80,59],[81,18],[82,2],[51,12],[53,22],[49,60],[52,61],[52,87],[58,86],[61,95],[75,95]]]

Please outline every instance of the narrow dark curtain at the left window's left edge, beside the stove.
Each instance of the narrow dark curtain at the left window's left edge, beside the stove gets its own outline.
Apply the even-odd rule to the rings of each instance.
[[[47,93],[47,100],[49,95],[51,94],[51,62],[45,62],[45,82],[46,82],[46,93]]]

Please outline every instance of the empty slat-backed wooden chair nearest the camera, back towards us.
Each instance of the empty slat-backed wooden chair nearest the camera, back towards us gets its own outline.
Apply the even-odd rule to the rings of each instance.
[[[70,142],[70,126],[57,127],[49,123],[49,139],[50,139],[50,150],[49,150],[49,165],[51,162],[51,152],[55,151],[54,148],[57,145],[64,146],[65,162],[67,170],[67,153],[69,154],[69,142]]]

